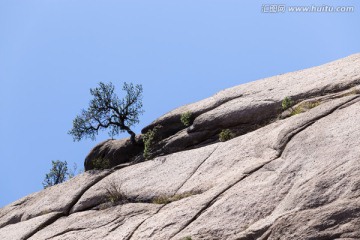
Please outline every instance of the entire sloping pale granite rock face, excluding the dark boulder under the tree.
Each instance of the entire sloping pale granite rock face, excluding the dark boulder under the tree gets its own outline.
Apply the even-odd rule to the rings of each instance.
[[[360,239],[358,85],[360,54],[175,109],[144,130],[163,125],[162,156],[20,199],[0,237]],[[237,137],[216,141],[223,128]]]

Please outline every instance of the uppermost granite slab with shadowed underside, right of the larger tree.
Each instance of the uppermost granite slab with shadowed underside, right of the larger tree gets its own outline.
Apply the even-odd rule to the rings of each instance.
[[[281,101],[287,96],[298,103],[359,84],[359,66],[360,58],[356,54],[319,67],[242,84],[177,108],[155,120],[142,132],[161,125],[158,134],[165,140],[160,147],[166,147],[160,151],[166,153],[193,148],[201,142],[216,142],[215,135],[221,129],[243,129],[239,131],[239,134],[243,134],[277,118],[281,112]],[[187,128],[188,136],[184,136],[183,131],[176,134],[186,129],[180,121],[181,114],[185,112],[191,112],[195,118],[192,126]],[[180,145],[177,147],[170,147],[178,142]]]

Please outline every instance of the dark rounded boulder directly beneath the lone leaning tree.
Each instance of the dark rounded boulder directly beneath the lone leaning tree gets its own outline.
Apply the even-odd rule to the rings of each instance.
[[[128,138],[120,140],[108,139],[91,149],[85,158],[85,171],[94,169],[92,163],[94,159],[107,159],[110,163],[109,167],[114,167],[122,163],[130,162],[133,157],[141,154],[143,149],[141,144],[134,145]]]

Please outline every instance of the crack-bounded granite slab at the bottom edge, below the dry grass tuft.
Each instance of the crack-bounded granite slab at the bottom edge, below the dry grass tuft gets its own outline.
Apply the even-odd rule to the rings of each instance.
[[[74,213],[69,217],[60,218],[29,240],[126,239],[138,224],[155,214],[159,208],[159,205],[137,203],[101,211]]]

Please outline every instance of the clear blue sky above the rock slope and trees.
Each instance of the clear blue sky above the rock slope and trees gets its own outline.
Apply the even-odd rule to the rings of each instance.
[[[222,89],[360,52],[358,1],[270,1],[284,2],[355,10],[263,13],[266,0],[0,0],[0,207],[41,190],[51,160],[82,167],[108,138],[67,134],[100,81],[119,95],[124,81],[143,85],[139,133]]]

